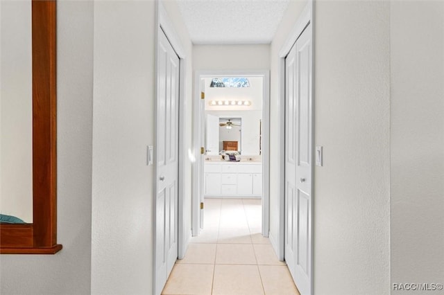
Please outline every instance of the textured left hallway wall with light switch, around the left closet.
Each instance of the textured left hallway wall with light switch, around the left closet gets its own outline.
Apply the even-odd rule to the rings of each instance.
[[[165,8],[183,33],[176,3]],[[182,39],[191,57],[191,42]],[[191,60],[187,69],[191,130]],[[93,294],[153,292],[154,170],[146,166],[146,146],[155,145],[154,89],[155,1],[94,2]],[[185,168],[191,170],[189,161]],[[189,212],[190,184],[185,179]],[[189,234],[190,224],[191,217]]]

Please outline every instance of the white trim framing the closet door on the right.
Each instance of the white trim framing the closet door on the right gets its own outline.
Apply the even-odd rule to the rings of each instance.
[[[271,244],[275,249],[275,252],[278,255],[279,260],[284,260],[284,231],[285,231],[285,57],[289,54],[291,47],[296,43],[298,37],[302,34],[303,30],[311,24],[311,100],[314,105],[314,0],[309,0],[304,10],[298,17],[295,26],[289,33],[286,41],[282,45],[279,51],[279,65],[278,65],[278,81],[279,81],[279,109],[278,109],[278,118],[279,118],[279,143],[280,143],[280,159],[279,159],[279,179],[280,179],[280,191],[279,191],[279,236],[271,237]],[[314,107],[312,107],[312,124],[311,124],[311,145],[314,147]],[[314,152],[311,153],[311,165],[314,163]],[[313,224],[314,224],[314,167],[311,168],[311,290],[313,290],[314,286],[314,265],[313,265],[313,257],[314,257],[314,234],[313,234]]]

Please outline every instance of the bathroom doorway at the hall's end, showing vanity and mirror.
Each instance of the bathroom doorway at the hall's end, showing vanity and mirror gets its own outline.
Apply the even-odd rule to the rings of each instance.
[[[268,237],[268,71],[199,71],[195,81],[193,236],[205,229],[211,199],[256,199]]]

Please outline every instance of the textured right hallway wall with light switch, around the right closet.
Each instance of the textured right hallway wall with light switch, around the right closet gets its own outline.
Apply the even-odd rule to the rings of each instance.
[[[302,7],[291,3],[273,40],[272,77]],[[314,139],[324,147],[324,166],[316,167],[314,179],[315,294],[389,292],[389,11],[382,1],[315,4]],[[278,90],[272,79],[271,129],[278,122]],[[277,139],[272,134],[276,161]],[[273,165],[271,175],[277,169]],[[273,214],[278,192],[271,187]],[[276,231],[271,217],[271,235]]]

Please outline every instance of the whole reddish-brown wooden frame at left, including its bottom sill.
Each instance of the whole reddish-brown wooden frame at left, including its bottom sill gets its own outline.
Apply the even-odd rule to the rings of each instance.
[[[57,244],[56,1],[32,0],[31,5],[33,222],[0,224],[0,253],[8,254],[62,249]]]

